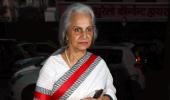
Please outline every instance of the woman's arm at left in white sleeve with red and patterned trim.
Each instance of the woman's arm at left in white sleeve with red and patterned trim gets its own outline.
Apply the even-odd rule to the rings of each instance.
[[[53,59],[50,57],[39,72],[34,100],[50,100],[51,98],[51,90],[54,82],[53,77],[55,76],[55,72],[52,68],[54,63],[52,63],[52,61]]]

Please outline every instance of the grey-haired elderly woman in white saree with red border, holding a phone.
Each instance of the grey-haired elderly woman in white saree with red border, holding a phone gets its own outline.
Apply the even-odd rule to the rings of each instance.
[[[35,100],[117,100],[105,61],[87,51],[96,36],[92,9],[81,3],[70,5],[60,20],[59,39],[64,49],[51,55],[42,67]],[[95,94],[97,90],[102,94]]]

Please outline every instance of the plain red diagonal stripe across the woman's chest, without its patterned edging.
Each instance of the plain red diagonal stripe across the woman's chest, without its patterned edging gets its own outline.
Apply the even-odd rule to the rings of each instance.
[[[52,100],[59,100],[60,97],[77,81],[77,79],[88,69],[88,67],[95,61],[96,55],[92,54],[89,59],[79,67],[52,95]]]

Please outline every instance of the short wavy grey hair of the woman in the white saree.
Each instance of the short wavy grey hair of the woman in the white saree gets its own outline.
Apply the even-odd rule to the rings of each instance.
[[[74,4],[67,7],[67,9],[65,10],[65,12],[63,13],[63,15],[60,18],[59,36],[58,36],[60,45],[62,47],[67,46],[67,39],[66,39],[67,29],[68,29],[69,24],[70,24],[71,15],[74,12],[83,12],[83,13],[89,14],[91,16],[92,24],[94,26],[92,44],[94,44],[94,41],[97,38],[97,29],[96,29],[96,25],[95,25],[94,12],[93,12],[92,8],[89,7],[88,5],[85,5],[85,4],[82,4],[82,3],[74,3]]]

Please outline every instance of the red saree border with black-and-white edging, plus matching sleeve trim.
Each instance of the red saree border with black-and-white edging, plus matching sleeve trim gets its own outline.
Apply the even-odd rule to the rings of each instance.
[[[66,100],[89,76],[101,57],[87,52],[72,68],[54,82],[51,90],[36,86],[35,100]],[[56,66],[57,67],[57,66]]]

